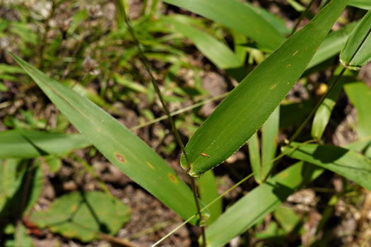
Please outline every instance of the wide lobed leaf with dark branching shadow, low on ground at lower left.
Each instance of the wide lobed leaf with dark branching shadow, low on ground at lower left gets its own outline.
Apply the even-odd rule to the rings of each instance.
[[[40,228],[88,242],[99,239],[99,233],[117,234],[129,222],[130,209],[105,193],[74,192],[59,197],[47,211],[34,212],[29,219]]]

